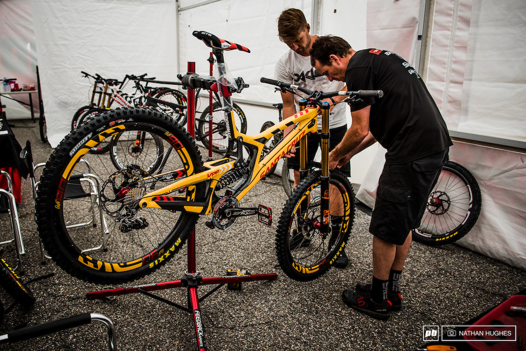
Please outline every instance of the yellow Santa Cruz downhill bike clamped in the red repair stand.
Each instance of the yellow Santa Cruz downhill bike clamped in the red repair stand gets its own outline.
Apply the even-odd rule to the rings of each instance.
[[[250,51],[207,32],[193,34],[213,49],[219,78],[188,73],[181,80],[189,89],[219,91],[229,136],[225,157],[203,163],[188,132],[153,109],[120,108],[98,115],[60,142],[43,171],[36,214],[48,253],[71,275],[115,284],[136,280],[165,264],[181,249],[199,215],[211,216],[206,223],[210,228],[228,229],[240,216],[256,214],[261,222],[270,224],[269,208],[242,208],[240,200],[300,140],[302,169],[306,169],[304,137],[317,132],[320,106],[324,126],[321,170],[311,172],[295,189],[276,234],[277,255],[286,274],[303,281],[320,276],[346,245],[355,211],[347,178],[338,172],[329,176],[329,105],[321,100],[337,95],[379,97],[382,92],[324,93],[261,78],[287,91],[303,91],[309,99],[294,116],[255,136],[245,135],[237,129],[232,113],[230,94],[238,88],[225,79],[228,72],[223,52]],[[268,140],[292,125],[295,128],[262,156]],[[118,133],[129,133],[130,137],[144,133],[144,149],[152,148],[145,155],[158,157],[155,140],[163,142],[164,150],[175,152],[163,155],[161,173],[145,171],[143,161],[134,158],[123,160],[122,168],[115,170],[109,157],[89,150]],[[86,182],[82,186],[90,197],[77,198],[68,191],[78,187],[79,179]],[[321,193],[311,193],[315,188]],[[333,216],[338,216],[338,225],[331,223]],[[74,224],[79,221],[90,224]]]

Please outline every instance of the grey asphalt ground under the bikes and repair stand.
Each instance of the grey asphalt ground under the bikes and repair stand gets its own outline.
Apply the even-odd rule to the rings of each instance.
[[[53,151],[39,139],[38,123],[9,121],[17,140],[31,140],[35,164]],[[206,155],[206,150],[201,149]],[[23,180],[23,202],[18,205],[26,254],[24,282],[36,297],[31,309],[13,304],[0,289],[6,308],[0,334],[82,313],[103,314],[115,324],[120,350],[195,350],[196,341],[188,313],[142,294],[88,300],[86,293],[100,286],[67,275],[52,261],[41,264],[34,223],[30,183]],[[229,230],[210,230],[201,218],[196,227],[196,264],[203,277],[225,275],[228,269],[250,273],[277,273],[274,281],[242,283],[241,291],[222,286],[201,301],[206,345],[209,350],[414,350],[423,344],[426,325],[457,325],[498,305],[526,287],[526,272],[449,244],[429,247],[413,243],[402,273],[403,308],[387,321],[378,321],[347,307],[341,300],[346,288],[370,282],[372,276],[370,217],[356,211],[347,246],[350,264],[332,268],[311,282],[296,282],[281,272],[275,253],[277,219],[286,201],[280,178],[271,176],[252,189],[242,206],[259,203],[272,208],[275,221],[269,228],[248,217]],[[8,214],[0,214],[0,241],[9,239]],[[468,234],[469,235],[469,234]],[[3,258],[15,263],[12,244],[3,245]],[[157,272],[133,286],[178,280],[186,270],[181,250]],[[115,286],[120,287],[120,286]],[[214,285],[201,286],[200,297]],[[186,288],[157,292],[186,305]],[[94,322],[67,331],[14,344],[1,350],[104,350],[107,333]]]

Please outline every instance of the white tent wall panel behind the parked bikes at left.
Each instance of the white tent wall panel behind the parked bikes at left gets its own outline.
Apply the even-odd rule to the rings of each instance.
[[[173,0],[32,0],[48,140],[70,131],[75,111],[89,102],[80,74],[122,80],[126,74],[176,80]]]

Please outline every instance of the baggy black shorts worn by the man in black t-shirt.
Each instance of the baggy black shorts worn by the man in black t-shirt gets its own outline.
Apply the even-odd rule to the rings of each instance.
[[[419,160],[383,167],[369,226],[371,234],[396,245],[406,241],[409,232],[420,226],[448,153],[449,148]]]

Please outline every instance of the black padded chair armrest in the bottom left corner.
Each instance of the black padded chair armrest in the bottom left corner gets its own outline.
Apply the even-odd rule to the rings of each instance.
[[[80,325],[88,324],[91,322],[91,315],[89,313],[83,313],[73,317],[58,319],[58,321],[38,324],[23,329],[17,329],[16,331],[7,333],[7,341],[9,343],[15,343],[21,340],[27,340],[49,333],[55,333],[63,331],[65,329],[78,327]]]

